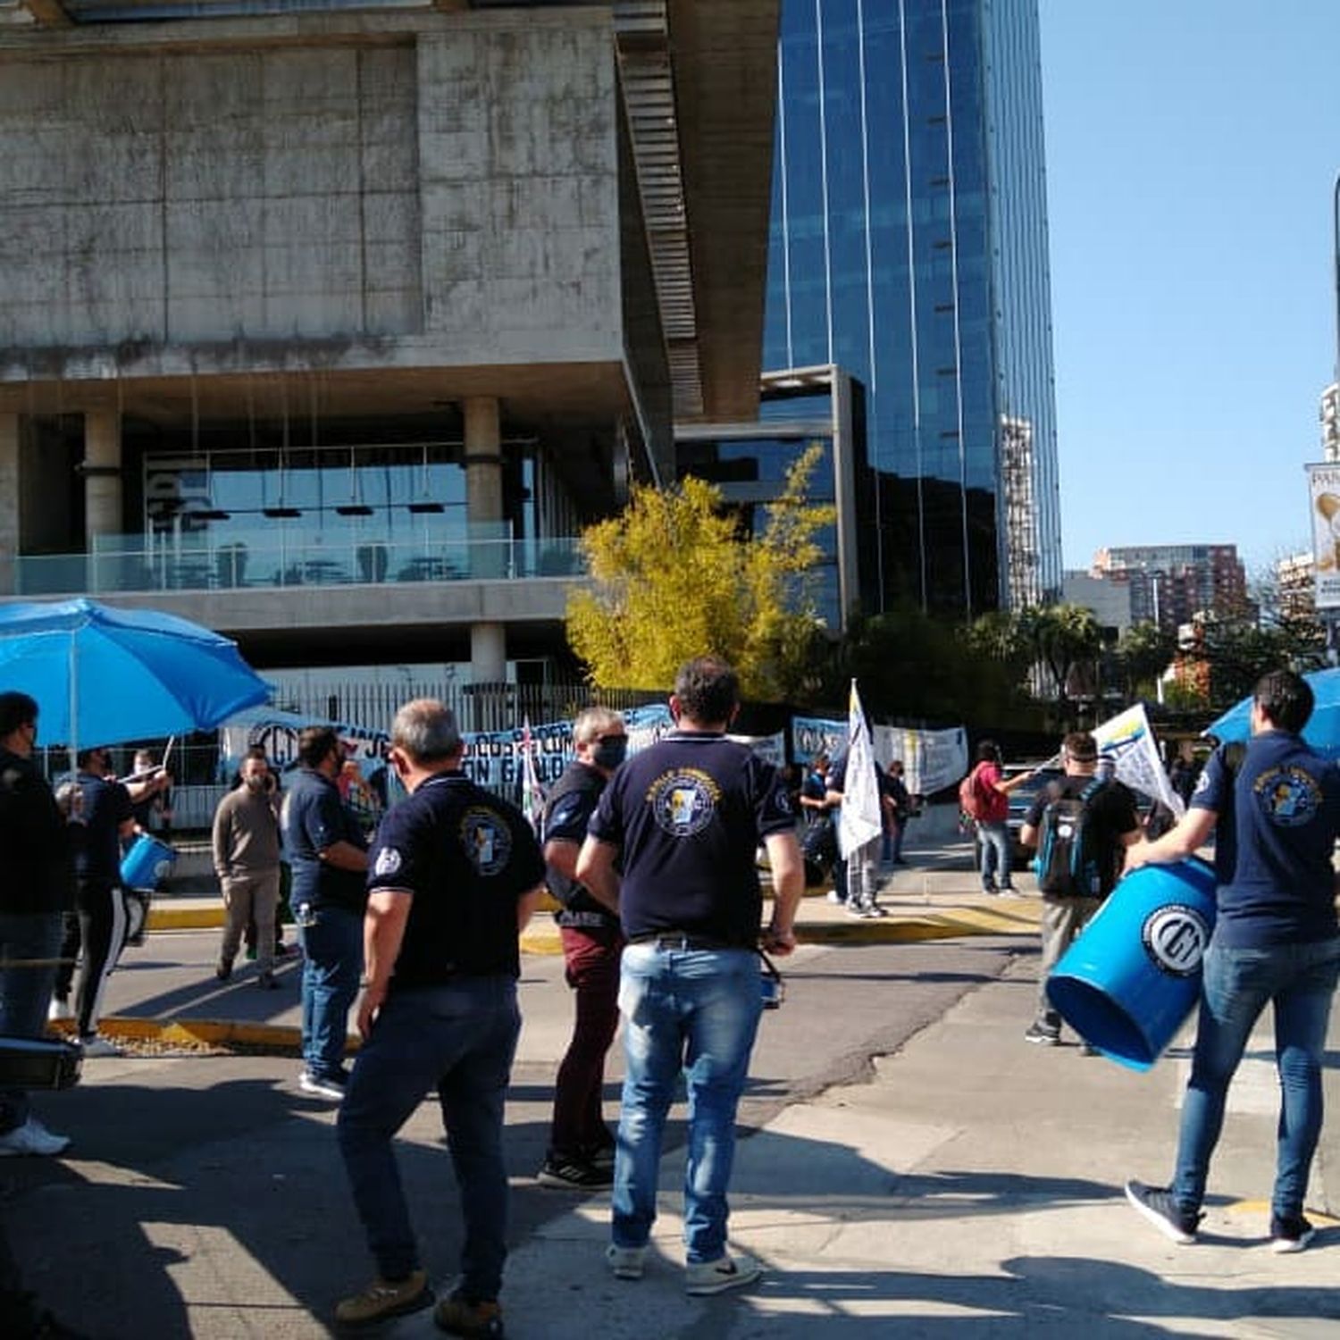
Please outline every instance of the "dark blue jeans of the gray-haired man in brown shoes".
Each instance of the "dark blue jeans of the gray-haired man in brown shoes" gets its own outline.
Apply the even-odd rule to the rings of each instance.
[[[461,977],[387,997],[359,1049],[336,1120],[358,1217],[385,1280],[419,1265],[391,1140],[437,1089],[461,1191],[461,1288],[493,1300],[507,1260],[503,1107],[521,1014],[512,977]]]

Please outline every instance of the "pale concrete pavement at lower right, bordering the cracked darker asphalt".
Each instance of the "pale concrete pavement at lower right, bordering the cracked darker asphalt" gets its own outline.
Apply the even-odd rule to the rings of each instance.
[[[1186,1047],[1147,1075],[1075,1045],[1029,1047],[1032,1005],[1030,978],[974,992],[896,1056],[878,1059],[870,1084],[793,1106],[740,1144],[732,1235],[766,1262],[756,1289],[710,1301],[683,1294],[675,1156],[663,1164],[646,1278],[594,1278],[608,1211],[604,1198],[592,1199],[511,1260],[512,1333],[1336,1335],[1340,1221],[1321,1213],[1340,1211],[1335,1120],[1309,1198],[1321,1231],[1300,1256],[1266,1246],[1269,1030],[1253,1038],[1234,1084],[1201,1241],[1178,1248],[1135,1215],[1120,1189],[1130,1177],[1167,1179]],[[1328,1087],[1335,1099],[1333,1069]],[[556,1309],[555,1297],[574,1306]]]

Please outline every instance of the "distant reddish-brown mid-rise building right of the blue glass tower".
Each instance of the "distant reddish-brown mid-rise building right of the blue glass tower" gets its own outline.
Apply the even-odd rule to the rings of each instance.
[[[1252,616],[1246,568],[1235,544],[1151,544],[1099,549],[1093,576],[1122,582],[1131,592],[1131,619],[1168,632],[1198,614]]]

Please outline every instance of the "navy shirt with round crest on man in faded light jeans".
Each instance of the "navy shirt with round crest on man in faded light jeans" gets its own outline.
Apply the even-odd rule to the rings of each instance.
[[[681,930],[745,949],[762,915],[758,843],[795,824],[781,777],[753,750],[673,732],[610,779],[590,832],[622,852],[624,935]]]

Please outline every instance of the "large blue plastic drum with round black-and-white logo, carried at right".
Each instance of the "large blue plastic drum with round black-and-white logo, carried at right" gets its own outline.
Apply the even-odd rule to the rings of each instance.
[[[1214,913],[1203,860],[1140,867],[1052,970],[1048,998],[1106,1056],[1147,1071],[1199,998]]]

